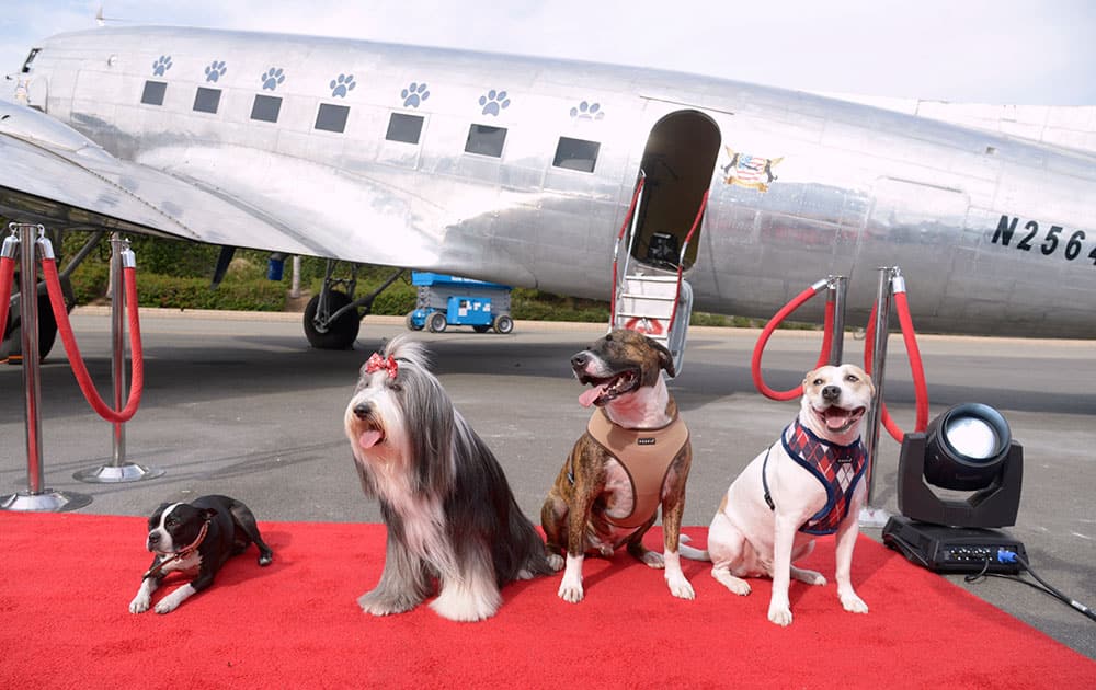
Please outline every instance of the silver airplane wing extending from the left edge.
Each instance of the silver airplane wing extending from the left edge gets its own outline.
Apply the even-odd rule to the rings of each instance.
[[[103,227],[335,255],[228,194],[123,161],[44,113],[5,101],[0,101],[0,216],[52,228]]]

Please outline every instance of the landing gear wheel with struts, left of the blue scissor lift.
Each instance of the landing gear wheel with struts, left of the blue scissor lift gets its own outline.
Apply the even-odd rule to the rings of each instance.
[[[379,288],[355,300],[357,265],[351,267],[350,278],[335,278],[336,264],[336,261],[328,260],[323,287],[305,307],[305,337],[317,349],[353,347],[362,327],[362,319],[373,310],[373,300],[403,275],[402,268],[397,269]],[[335,289],[336,287],[343,289]]]

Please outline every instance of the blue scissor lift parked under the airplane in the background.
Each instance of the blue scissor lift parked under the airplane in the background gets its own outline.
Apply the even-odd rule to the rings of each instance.
[[[477,333],[510,333],[509,285],[421,271],[411,272],[411,285],[419,288],[415,310],[408,314],[412,331],[442,333],[450,325],[469,325]]]

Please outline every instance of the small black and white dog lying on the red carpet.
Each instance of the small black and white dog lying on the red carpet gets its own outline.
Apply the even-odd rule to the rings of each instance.
[[[148,518],[146,547],[155,555],[141,579],[130,613],[147,611],[152,593],[168,573],[192,577],[157,602],[157,613],[170,613],[191,596],[208,588],[217,571],[231,556],[254,542],[259,565],[270,565],[274,552],[259,534],[255,516],[248,506],[228,496],[202,496],[192,503],[164,503]]]

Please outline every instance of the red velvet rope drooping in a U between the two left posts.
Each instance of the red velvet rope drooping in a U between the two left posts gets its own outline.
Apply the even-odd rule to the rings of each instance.
[[[145,357],[140,342],[140,320],[137,315],[137,275],[135,268],[124,268],[123,276],[126,285],[126,307],[129,315],[129,348],[130,354],[130,384],[129,400],[121,411],[112,410],[95,390],[95,384],[88,373],[88,367],[80,356],[80,348],[72,334],[72,324],[69,322],[68,310],[65,307],[65,296],[61,294],[60,280],[57,277],[57,263],[53,258],[42,260],[42,273],[46,278],[46,291],[49,292],[49,303],[54,308],[54,318],[57,321],[57,331],[60,333],[61,342],[65,343],[65,352],[68,354],[69,364],[72,365],[72,373],[76,381],[83,391],[83,396],[92,409],[107,422],[122,424],[128,422],[137,413],[140,405],[140,396],[145,389]],[[117,296],[115,296],[117,299]]]

